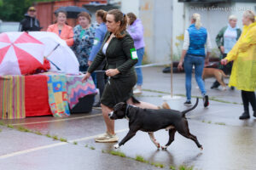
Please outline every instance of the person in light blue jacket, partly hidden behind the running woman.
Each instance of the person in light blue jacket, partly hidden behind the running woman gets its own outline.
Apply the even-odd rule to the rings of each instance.
[[[88,65],[90,66],[92,61],[95,59],[96,54],[100,51],[101,47],[102,47],[102,42],[104,40],[105,34],[108,31],[107,26],[106,26],[106,16],[107,16],[107,12],[100,9],[96,11],[96,22],[100,25],[99,27],[96,28],[95,31],[95,38],[94,38],[94,42],[93,42],[93,47],[91,48],[90,51],[90,57],[88,59]],[[102,71],[104,69],[106,65],[106,61],[102,62],[102,65],[100,65],[96,71]],[[100,90],[100,98],[102,98],[102,93],[104,90],[104,86],[105,86],[105,76],[104,76],[104,72],[96,72],[96,73],[92,73],[92,75],[95,75],[94,80],[96,83],[96,88],[99,88]],[[93,105],[94,107],[101,107],[101,101],[98,101],[95,103],[95,105]]]

